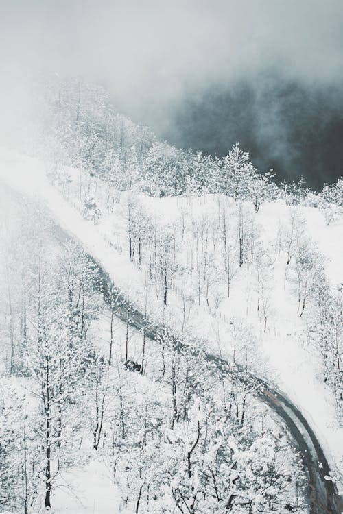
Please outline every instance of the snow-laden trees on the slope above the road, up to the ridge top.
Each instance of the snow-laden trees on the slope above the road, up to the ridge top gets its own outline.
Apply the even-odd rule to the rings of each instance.
[[[175,280],[185,272],[185,261],[178,262],[177,258],[182,247],[187,247],[189,276],[194,284],[191,296],[199,305],[204,302],[209,310],[218,306],[222,297],[230,297],[230,286],[237,271],[244,264],[249,269],[251,262],[257,273],[257,310],[263,317],[262,324],[266,330],[272,309],[269,286],[262,278],[270,273],[270,258],[268,251],[266,253],[266,249],[259,245],[255,217],[248,204],[252,205],[256,215],[263,202],[281,200],[291,207],[290,219],[289,224],[281,228],[276,244],[279,254],[281,251],[286,254],[285,276],[289,273],[288,265],[291,263],[294,267],[292,280],[296,283],[300,317],[310,307],[317,308],[315,290],[318,284],[324,287],[329,304],[334,304],[339,311],[340,292],[332,293],[325,280],[318,280],[318,276],[324,276],[322,260],[318,250],[305,237],[304,221],[298,215],[297,206],[315,206],[322,212],[327,225],[334,222],[342,214],[342,178],[330,186],[323,184],[321,193],[306,188],[303,180],[278,183],[272,171],[261,173],[257,170],[248,152],[238,143],[227,155],[213,158],[156,140],[147,127],[134,125],[117,114],[111,108],[106,92],[98,86],[80,81],[54,81],[49,84],[47,93],[49,126],[45,130],[49,138],[43,139],[43,151],[51,155],[52,148],[51,179],[69,197],[72,195],[69,178],[66,171],[60,170],[65,164],[84,169],[87,173],[80,173],[77,195],[78,201],[84,205],[84,216],[91,219],[97,219],[101,212],[113,212],[119,192],[131,191],[126,204],[128,256],[139,267],[147,268],[149,280],[155,283],[156,295],[163,299],[163,304],[167,305],[169,291],[174,289]],[[61,140],[60,124],[69,131],[66,140]],[[52,132],[49,127],[53,127]],[[139,200],[140,193],[151,197],[224,195],[233,199],[236,207],[230,210],[225,202],[218,199],[214,219],[193,221],[189,238],[186,213],[180,223],[161,227],[145,211]],[[214,258],[218,246],[222,247],[221,263]],[[223,273],[225,288],[217,280],[218,273]],[[190,307],[187,295],[182,296],[185,322]],[[336,316],[340,317],[338,313]],[[331,314],[329,318],[335,319],[335,315]],[[309,330],[311,332],[312,329]],[[323,347],[331,347],[335,378],[329,380],[324,371],[324,380],[329,380],[333,387],[338,411],[341,411],[342,340],[337,330],[335,334],[329,345],[317,344],[321,348],[324,369],[329,357]]]

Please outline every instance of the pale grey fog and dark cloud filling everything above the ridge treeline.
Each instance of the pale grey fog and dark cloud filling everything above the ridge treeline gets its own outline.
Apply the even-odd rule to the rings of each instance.
[[[341,174],[341,0],[0,5],[3,133],[32,117],[36,77],[57,73],[103,84],[178,146],[222,154],[239,140],[263,169],[314,186]]]

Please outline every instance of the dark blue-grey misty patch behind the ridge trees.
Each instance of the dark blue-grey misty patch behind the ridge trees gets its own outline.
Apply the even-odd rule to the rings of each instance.
[[[192,92],[163,136],[184,148],[224,156],[239,141],[261,170],[319,191],[342,176],[343,95],[266,74],[255,82]]]

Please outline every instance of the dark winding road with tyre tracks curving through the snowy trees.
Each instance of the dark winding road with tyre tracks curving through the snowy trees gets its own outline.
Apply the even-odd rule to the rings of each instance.
[[[21,197],[20,193],[17,193],[12,188],[5,186],[10,189],[12,195]],[[54,223],[56,230],[56,238],[60,242],[73,239],[78,241],[78,238],[66,232],[60,225],[56,225],[54,215],[51,213],[51,221]],[[80,241],[78,241],[79,244]],[[110,291],[115,293],[117,298],[115,306],[115,315],[126,322],[128,313],[128,300],[126,297],[117,289],[113,284],[110,276],[99,262],[97,262],[91,255],[88,255],[93,266],[99,271],[99,282],[97,287],[99,292],[104,295],[106,302],[110,302]],[[130,304],[130,325],[137,329],[142,330],[144,326],[144,315],[137,308]],[[149,323],[146,328],[146,336],[152,341],[156,341],[156,335],[161,332],[161,328]],[[230,365],[226,360],[215,356],[209,352],[202,352],[197,350],[196,347],[189,347],[181,341],[175,339],[172,344],[174,348],[181,351],[191,352],[195,357],[202,356],[202,358],[215,365],[217,369],[224,374],[230,374],[235,376],[239,380],[243,380],[243,369],[238,365]],[[305,417],[300,413],[298,408],[292,404],[287,396],[279,391],[276,391],[273,387],[268,384],[265,380],[256,376],[250,376],[250,382],[252,387],[252,394],[267,404],[272,411],[274,411],[283,420],[283,423],[288,428],[290,434],[296,441],[298,449],[303,456],[303,465],[307,472],[309,483],[307,486],[307,496],[309,501],[309,509],[311,514],[342,514],[343,513],[343,500],[338,495],[337,489],[331,480],[326,480],[325,476],[329,474],[329,463],[327,458],[324,456],[324,452],[320,447],[320,443],[314,434],[314,431],[309,426]]]

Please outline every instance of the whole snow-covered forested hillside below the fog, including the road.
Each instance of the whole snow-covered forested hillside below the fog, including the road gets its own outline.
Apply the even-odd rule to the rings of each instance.
[[[0,159],[0,513],[341,513],[342,178],[39,103]]]

